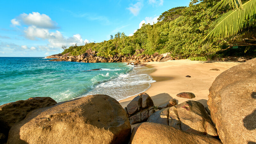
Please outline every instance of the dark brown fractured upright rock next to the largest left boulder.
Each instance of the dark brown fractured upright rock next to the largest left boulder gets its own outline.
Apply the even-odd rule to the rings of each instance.
[[[153,100],[145,92],[133,98],[127,107],[124,108],[129,116],[130,124],[147,121],[148,117],[155,112],[153,106]]]

